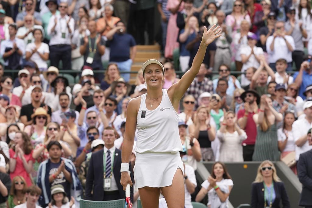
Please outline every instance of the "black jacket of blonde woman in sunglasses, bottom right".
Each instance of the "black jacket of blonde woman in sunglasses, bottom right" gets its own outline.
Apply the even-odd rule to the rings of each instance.
[[[283,182],[274,182],[275,200],[272,204],[273,208],[280,208],[282,201],[283,208],[290,208],[290,202]],[[263,182],[253,183],[251,189],[251,207],[263,208],[264,206],[264,186]]]

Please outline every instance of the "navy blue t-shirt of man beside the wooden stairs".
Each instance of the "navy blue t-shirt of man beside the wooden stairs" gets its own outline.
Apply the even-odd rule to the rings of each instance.
[[[136,45],[134,37],[128,33],[115,33],[110,43],[110,61],[122,62],[130,59],[130,47]]]

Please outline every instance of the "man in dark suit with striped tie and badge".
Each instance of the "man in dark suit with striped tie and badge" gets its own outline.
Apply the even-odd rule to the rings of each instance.
[[[114,146],[115,129],[106,127],[102,139],[105,142],[104,149],[93,153],[90,159],[85,185],[86,199],[92,201],[124,199],[125,191],[120,184],[121,151]],[[129,170],[131,170],[131,164]],[[132,172],[131,179],[134,182]],[[133,187],[131,187],[132,200]]]

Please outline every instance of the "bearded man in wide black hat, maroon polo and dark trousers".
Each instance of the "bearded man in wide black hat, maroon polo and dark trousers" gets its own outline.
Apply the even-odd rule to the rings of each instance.
[[[238,125],[247,134],[247,139],[242,143],[243,157],[244,161],[252,161],[257,136],[257,126],[252,117],[258,111],[260,96],[255,90],[249,89],[241,94],[241,99],[244,100],[245,104],[244,109],[237,113]]]

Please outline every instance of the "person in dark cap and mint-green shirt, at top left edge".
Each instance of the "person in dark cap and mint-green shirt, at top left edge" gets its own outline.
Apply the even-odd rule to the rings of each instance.
[[[44,34],[45,34],[44,42],[48,43],[51,39],[51,36],[48,33],[48,25],[49,25],[50,19],[54,15],[59,15],[60,11],[57,10],[57,8],[58,8],[58,1],[57,0],[47,0],[45,4],[48,7],[48,11],[45,12],[41,16],[41,19],[42,19],[42,27],[44,29]]]

